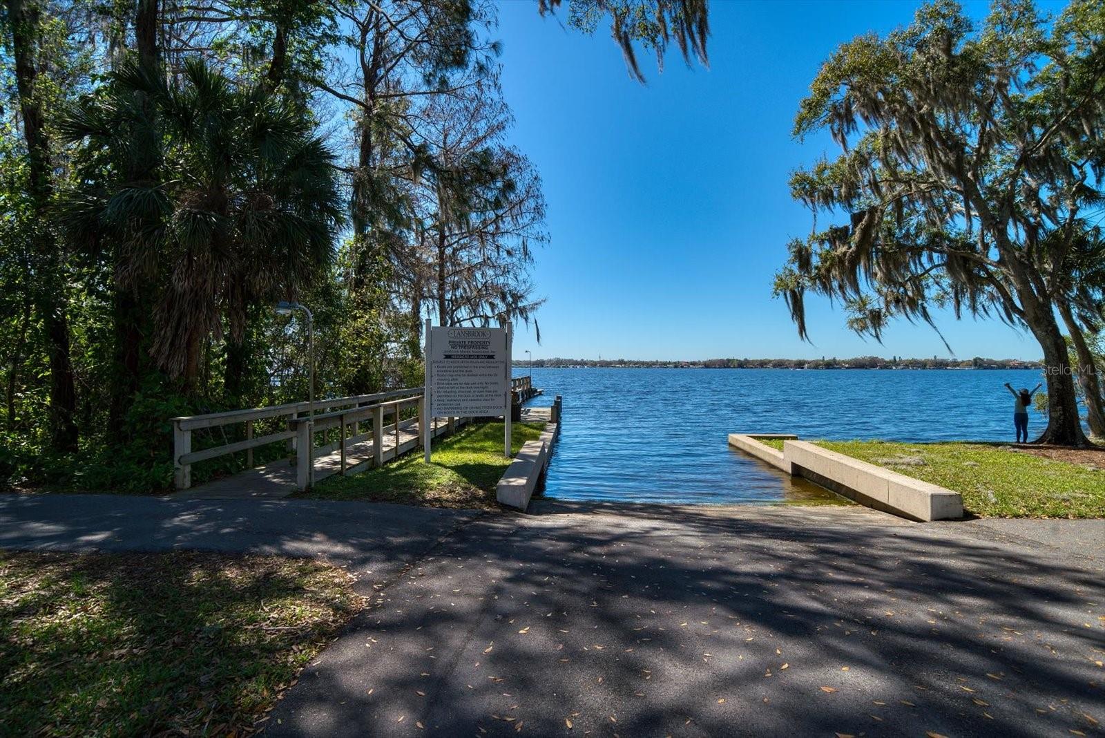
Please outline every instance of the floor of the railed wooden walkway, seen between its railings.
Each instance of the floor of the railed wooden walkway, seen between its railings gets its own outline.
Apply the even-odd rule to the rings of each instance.
[[[449,426],[444,421],[434,430],[434,437],[444,435]],[[403,421],[399,425],[399,453],[396,453],[396,426],[383,431],[383,461],[421,446],[418,420]],[[346,446],[346,473],[365,471],[372,465],[375,446],[371,439],[349,443]],[[315,481],[322,481],[341,471],[340,450],[315,456]],[[212,479],[181,492],[173,493],[173,499],[280,499],[295,492],[295,467],[287,458],[277,458],[264,466],[246,470],[232,476]]]

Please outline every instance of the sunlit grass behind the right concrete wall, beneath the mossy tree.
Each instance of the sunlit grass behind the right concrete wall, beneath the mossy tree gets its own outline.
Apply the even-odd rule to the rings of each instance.
[[[782,450],[782,441],[760,439],[760,443]],[[1092,464],[986,443],[815,443],[958,492],[965,510],[980,517],[1105,517],[1105,471]]]

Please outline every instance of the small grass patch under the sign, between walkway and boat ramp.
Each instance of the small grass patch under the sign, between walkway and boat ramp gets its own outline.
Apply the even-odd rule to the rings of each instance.
[[[514,423],[512,453],[540,437],[543,423]],[[503,456],[503,423],[482,423],[461,430],[433,447],[431,463],[421,452],[350,476],[332,476],[301,497],[365,499],[425,507],[496,507],[495,484],[511,460]]]

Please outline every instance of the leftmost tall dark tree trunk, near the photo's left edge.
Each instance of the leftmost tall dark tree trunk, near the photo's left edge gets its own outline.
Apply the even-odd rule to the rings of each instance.
[[[44,125],[42,101],[35,91],[39,70],[34,61],[40,11],[33,0],[7,0],[7,6],[12,35],[11,50],[15,62],[15,86],[23,116],[23,138],[27,141],[29,190],[38,220],[32,235],[32,251],[36,262],[32,267],[35,270],[32,288],[35,292],[35,306],[42,314],[50,358],[51,445],[55,451],[70,452],[77,447],[74,421],[76,387],[73,382],[69,320],[65,316],[65,281],[59,273],[64,270],[65,260],[49,226],[53,200],[50,138]]]

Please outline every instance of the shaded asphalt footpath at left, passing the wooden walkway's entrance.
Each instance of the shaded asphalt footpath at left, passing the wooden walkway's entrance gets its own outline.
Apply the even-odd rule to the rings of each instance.
[[[362,592],[481,515],[315,499],[198,500],[120,495],[2,495],[0,548],[323,556]]]

